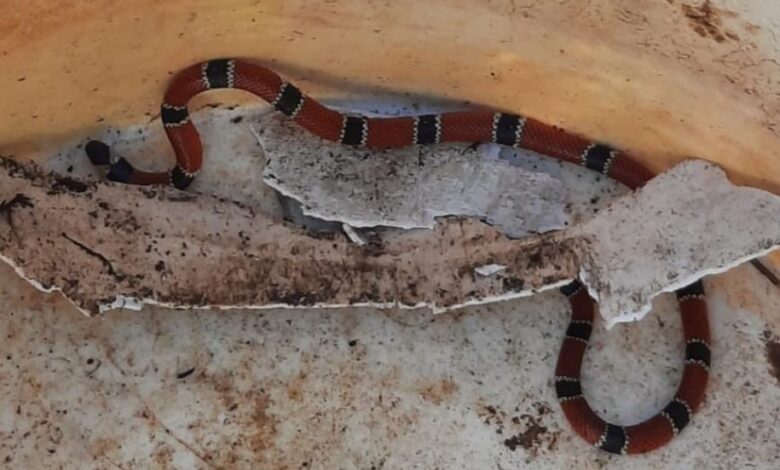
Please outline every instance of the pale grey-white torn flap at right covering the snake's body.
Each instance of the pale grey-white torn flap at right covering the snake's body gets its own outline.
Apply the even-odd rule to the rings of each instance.
[[[609,327],[642,318],[660,293],[780,246],[780,197],[689,160],[569,233],[592,241],[581,279]]]

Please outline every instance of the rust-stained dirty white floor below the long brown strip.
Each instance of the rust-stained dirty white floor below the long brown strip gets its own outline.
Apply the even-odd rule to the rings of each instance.
[[[552,377],[568,312],[556,293],[436,318],[147,308],[90,319],[3,265],[0,462],[777,468],[780,364],[768,354],[780,349],[780,290],[749,265],[706,285],[714,336],[707,402],[669,446],[621,458],[585,445],[559,411]],[[588,399],[622,423],[653,414],[674,391],[682,348],[669,296],[640,322],[596,328]]]

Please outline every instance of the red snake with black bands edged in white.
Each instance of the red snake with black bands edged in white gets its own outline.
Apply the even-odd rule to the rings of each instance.
[[[233,59],[193,65],[177,74],[168,87],[161,118],[176,154],[176,165],[170,171],[144,172],[124,159],[112,161],[108,147],[99,141],[87,144],[87,155],[97,165],[110,165],[108,178],[114,181],[187,188],[203,164],[200,136],[190,120],[187,103],[197,94],[219,88],[257,95],[315,135],[346,145],[386,149],[440,142],[495,142],[583,165],[631,189],[654,176],[625,152],[515,114],[462,111],[388,118],[342,114],[304,95],[275,72]],[[710,336],[701,282],[677,292],[686,347],[685,368],[674,399],[657,415],[625,427],[606,423],[582,395],[580,368],[592,330],[594,304],[577,281],[561,291],[569,297],[572,319],[555,369],[555,388],[574,431],[588,443],[616,454],[648,452],[669,442],[704,401]]]

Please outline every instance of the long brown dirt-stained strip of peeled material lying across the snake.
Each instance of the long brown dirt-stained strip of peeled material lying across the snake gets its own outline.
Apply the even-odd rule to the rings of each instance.
[[[84,183],[0,159],[0,254],[85,312],[171,307],[431,306],[528,295],[576,275],[580,240],[513,241],[473,220],[355,246],[223,199],[172,188]],[[480,278],[474,268],[505,271]]]

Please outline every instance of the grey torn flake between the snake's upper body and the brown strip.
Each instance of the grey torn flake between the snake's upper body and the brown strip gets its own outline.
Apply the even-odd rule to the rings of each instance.
[[[563,184],[463,144],[372,151],[325,142],[278,115],[261,119],[264,180],[303,213],[353,227],[432,228],[484,219],[510,237],[563,228]]]

